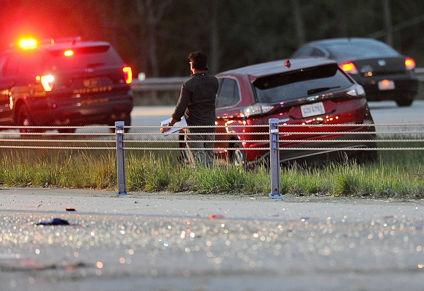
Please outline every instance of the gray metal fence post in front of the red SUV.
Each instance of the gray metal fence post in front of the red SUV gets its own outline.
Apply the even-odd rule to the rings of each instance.
[[[280,193],[280,151],[279,151],[279,129],[278,118],[269,120],[269,146],[270,146],[270,166],[271,166],[271,192],[268,196],[273,199],[282,199]]]

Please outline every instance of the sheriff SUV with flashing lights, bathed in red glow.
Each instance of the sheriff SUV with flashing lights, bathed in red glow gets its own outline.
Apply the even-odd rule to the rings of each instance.
[[[131,80],[107,42],[23,39],[0,55],[0,125],[131,125]]]

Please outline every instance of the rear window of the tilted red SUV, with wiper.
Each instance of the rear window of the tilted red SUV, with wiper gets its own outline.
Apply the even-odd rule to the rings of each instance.
[[[268,104],[293,101],[329,91],[342,91],[352,84],[337,64],[266,76],[253,83],[258,101]]]

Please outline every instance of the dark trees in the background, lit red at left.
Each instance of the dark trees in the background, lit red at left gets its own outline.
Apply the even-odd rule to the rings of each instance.
[[[288,58],[304,42],[373,37],[424,67],[424,1],[416,0],[2,0],[2,46],[17,35],[111,42],[134,73],[187,76],[187,55],[211,73]]]

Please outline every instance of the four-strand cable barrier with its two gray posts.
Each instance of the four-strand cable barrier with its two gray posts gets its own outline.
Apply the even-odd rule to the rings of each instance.
[[[269,129],[268,129],[269,126]],[[269,134],[269,140],[248,140],[249,142],[269,142],[270,146],[266,148],[245,148],[245,150],[269,150],[270,151],[270,162],[271,162],[271,192],[269,193],[269,196],[271,198],[282,198],[282,195],[280,193],[280,178],[279,178],[279,152],[281,150],[331,150],[331,151],[357,151],[358,148],[323,148],[323,147],[310,147],[310,148],[296,148],[296,147],[280,147],[279,143],[283,142],[282,140],[279,140],[280,135],[293,135],[296,134],[316,134],[316,132],[312,132],[312,128],[316,127],[328,127],[328,132],[320,132],[320,134],[378,134],[382,137],[385,136],[385,134],[395,135],[395,134],[401,134],[400,139],[377,139],[377,142],[380,143],[393,143],[393,142],[405,142],[405,143],[412,143],[412,142],[424,142],[424,123],[388,123],[388,124],[356,124],[355,126],[383,126],[385,128],[391,128],[391,127],[401,127],[402,130],[399,131],[379,131],[379,132],[334,132],[331,131],[331,127],[338,126],[338,127],[352,127],[351,124],[332,124],[332,125],[279,125],[279,121],[276,118],[272,118],[269,120],[269,125],[251,125],[251,126],[240,126],[240,125],[228,125],[228,126],[215,126],[216,128],[229,128],[229,127],[263,127],[264,132],[255,132],[255,133],[248,133],[248,134],[257,134],[266,136]],[[412,126],[412,130],[404,130],[405,127]],[[187,126],[190,128],[205,128],[210,126]],[[304,127],[306,128],[306,132],[293,132],[290,131],[290,127]],[[0,129],[20,129],[24,128],[22,126],[2,126]],[[1,135],[20,135],[20,138],[0,138],[0,148],[44,148],[44,149],[96,149],[96,150],[116,150],[117,153],[117,181],[118,181],[118,195],[128,195],[127,188],[126,188],[126,165],[125,165],[125,150],[181,150],[179,147],[130,147],[126,146],[126,143],[150,143],[152,140],[125,140],[126,136],[141,136],[141,135],[156,135],[156,136],[162,136],[164,134],[159,132],[160,126],[125,126],[123,121],[117,121],[115,123],[115,126],[25,126],[26,129],[43,129],[43,130],[53,130],[53,129],[109,129],[114,130],[113,132],[75,132],[75,133],[59,133],[59,132],[48,132],[48,133],[37,133],[37,132],[1,132]],[[144,129],[151,129],[155,128],[157,129],[157,133],[131,133],[131,132],[125,132],[125,129],[131,129],[131,128],[144,128]],[[284,128],[284,130],[281,130]],[[307,130],[310,130],[308,132]],[[281,131],[280,131],[281,130]],[[167,136],[170,136],[169,140],[157,140],[158,143],[176,143],[176,140],[172,137],[175,135],[181,135],[184,133],[170,133],[167,134]],[[219,134],[228,134],[228,133],[215,133],[215,135]],[[243,134],[243,133],[237,133],[237,134]],[[413,134],[414,137],[412,138],[404,138],[405,134]],[[59,136],[59,139],[29,139],[25,138],[27,136]],[[68,139],[60,139],[61,136],[68,137]],[[81,136],[83,138],[81,139],[69,139],[70,136]],[[101,140],[88,140],[87,136],[103,136],[103,137],[114,137],[115,139],[101,139]],[[220,140],[220,142],[245,142],[246,140]],[[301,139],[293,139],[288,140],[284,139],[284,142],[290,143],[331,143],[331,142],[339,142],[340,140],[301,140]],[[353,142],[353,143],[360,143],[364,142],[364,140],[345,140],[346,142]],[[367,140],[369,141],[369,140]],[[48,143],[49,145],[19,145],[19,143]],[[198,142],[198,141],[196,141]],[[51,146],[51,143],[83,143],[84,146]],[[110,146],[89,146],[87,144],[89,143],[110,143]],[[199,148],[192,148],[192,149],[199,149]],[[202,148],[203,149],[203,148]],[[232,150],[234,148],[213,148],[214,150]],[[424,147],[380,147],[380,148],[360,148],[360,150],[364,151],[399,151],[399,150],[406,150],[406,151],[416,151],[416,150],[424,150]]]

